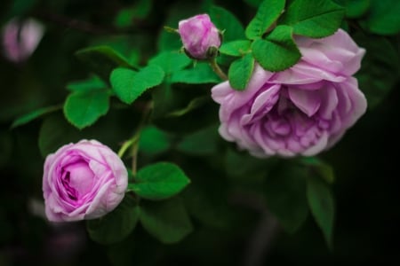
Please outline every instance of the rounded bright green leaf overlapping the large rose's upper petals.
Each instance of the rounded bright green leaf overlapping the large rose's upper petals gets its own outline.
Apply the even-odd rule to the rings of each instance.
[[[301,54],[292,37],[292,27],[278,26],[266,40],[252,43],[252,55],[268,71],[283,71],[296,64]]]

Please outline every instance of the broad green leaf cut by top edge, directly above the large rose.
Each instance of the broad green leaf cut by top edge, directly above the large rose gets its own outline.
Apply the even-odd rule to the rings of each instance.
[[[293,34],[311,38],[332,35],[341,24],[345,10],[330,0],[294,0],[280,23],[293,27]]]

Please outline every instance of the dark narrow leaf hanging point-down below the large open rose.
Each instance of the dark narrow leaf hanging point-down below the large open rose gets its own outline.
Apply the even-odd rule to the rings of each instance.
[[[332,248],[332,231],[335,206],[329,186],[317,176],[309,176],[307,198],[311,213],[324,233],[326,243]]]

